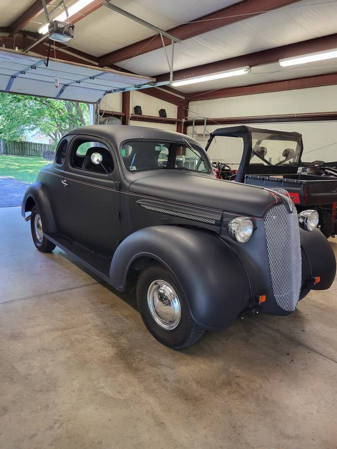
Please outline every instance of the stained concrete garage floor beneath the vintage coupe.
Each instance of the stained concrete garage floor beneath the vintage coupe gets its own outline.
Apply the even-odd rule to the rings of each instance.
[[[1,449],[337,448],[336,282],[172,351],[18,208],[0,226]]]

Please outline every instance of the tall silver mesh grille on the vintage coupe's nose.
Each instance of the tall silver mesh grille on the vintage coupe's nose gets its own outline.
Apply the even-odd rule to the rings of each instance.
[[[276,302],[282,309],[293,311],[302,282],[300,229],[295,207],[292,214],[284,204],[271,208],[265,217],[265,231]]]

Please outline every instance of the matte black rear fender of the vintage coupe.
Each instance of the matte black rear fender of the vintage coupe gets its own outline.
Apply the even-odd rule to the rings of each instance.
[[[26,212],[31,211],[33,203],[36,204],[40,213],[43,222],[43,231],[47,233],[57,233],[57,227],[48,195],[40,181],[35,181],[27,188],[21,205],[22,217],[25,216]]]

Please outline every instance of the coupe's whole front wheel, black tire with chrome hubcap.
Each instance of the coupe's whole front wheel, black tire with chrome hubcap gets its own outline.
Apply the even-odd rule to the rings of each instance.
[[[137,303],[149,332],[169,348],[186,348],[204,334],[194,322],[176,278],[160,265],[150,265],[140,273]]]

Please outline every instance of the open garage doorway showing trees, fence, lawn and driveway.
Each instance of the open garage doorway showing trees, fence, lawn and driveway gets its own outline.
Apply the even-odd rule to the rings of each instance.
[[[54,158],[60,138],[92,124],[92,105],[0,93],[0,208],[21,205],[38,171]]]

